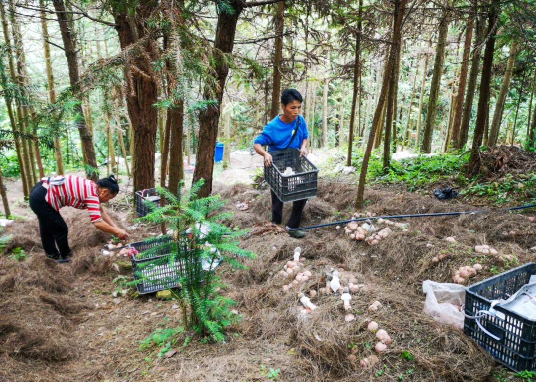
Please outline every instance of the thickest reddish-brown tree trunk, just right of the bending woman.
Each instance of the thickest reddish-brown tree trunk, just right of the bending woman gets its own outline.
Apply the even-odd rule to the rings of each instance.
[[[150,33],[146,27],[147,18],[157,8],[157,2],[142,0],[138,3],[135,14],[126,10],[113,10],[121,49],[125,50],[132,43],[138,42]],[[158,45],[149,36],[146,44],[140,48],[143,54],[136,54],[125,61],[125,98],[132,132],[132,178],[133,192],[154,187],[154,154],[158,130],[158,108],[153,105],[158,101],[158,78],[152,69],[153,60],[159,55]],[[133,65],[136,70],[131,69]]]

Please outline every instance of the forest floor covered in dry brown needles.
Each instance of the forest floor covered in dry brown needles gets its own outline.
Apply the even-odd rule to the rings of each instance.
[[[332,167],[333,152],[314,155],[321,169]],[[232,166],[217,169],[215,178],[249,183],[247,177],[255,171],[250,166],[260,166],[260,160],[248,157],[249,152],[235,155]],[[330,176],[319,181],[317,197],[304,210],[303,225],[352,216],[356,186],[348,185],[347,178],[339,180],[343,181]],[[202,343],[193,333],[181,333],[170,345],[176,352],[158,357],[159,347],[140,350],[140,343],[159,328],[181,326],[175,302],[154,295],[134,298],[132,290],[125,296],[112,295],[121,280],[118,276],[129,278],[132,271],[123,258],[101,254],[109,236],[92,227],[87,211],[62,209],[75,252],[73,261],[57,264],[44,259],[37,222],[21,201],[17,184],[8,183],[14,214],[20,216],[8,229],[13,234],[8,253],[22,248],[29,256],[20,262],[0,258],[1,382],[522,380],[460,330],[427,317],[421,288],[427,279],[451,282],[455,269],[476,261],[483,271],[468,284],[534,261],[530,248],[536,246],[536,225],[526,213],[492,209],[482,215],[408,219],[402,221],[409,224],[407,231],[393,229],[377,246],[349,241],[344,230],[334,227],[311,230],[306,238],[296,240],[266,224],[269,190],[215,183],[214,191],[228,200],[225,209],[234,212],[228,223],[252,228],[241,246],[257,253],[256,259],[247,261],[247,270],[233,271],[225,265],[220,270],[228,284],[224,294],[236,301],[242,320],[230,327],[225,343]],[[123,191],[128,187],[121,186]],[[129,229],[131,241],[158,234],[159,227],[133,220],[124,195],[116,198],[110,210]],[[474,209],[461,201],[438,201],[382,183],[367,188],[365,198],[366,212],[374,215]],[[237,210],[235,202],[246,200],[251,201],[250,209]],[[289,208],[285,206],[285,218]],[[510,231],[514,233],[504,235]],[[444,240],[449,236],[456,243]],[[475,253],[474,246],[482,244],[496,248],[500,255]],[[312,276],[307,283],[282,292],[289,280],[281,278],[279,271],[292,260],[296,246],[303,248],[302,268]],[[440,254],[445,258],[434,263],[432,259]],[[354,278],[361,284],[352,299],[356,320],[345,322],[347,312],[340,297],[320,294],[312,298],[318,310],[299,319],[297,294],[322,287],[323,272],[332,267],[343,272],[346,280]],[[383,307],[369,312],[374,300]],[[373,354],[376,342],[366,329],[369,320],[387,330],[392,343],[376,365],[364,369],[359,361]]]

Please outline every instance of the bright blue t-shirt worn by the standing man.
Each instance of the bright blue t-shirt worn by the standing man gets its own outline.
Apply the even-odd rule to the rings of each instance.
[[[301,115],[298,115],[296,120],[291,123],[285,123],[281,121],[279,115],[276,116],[273,120],[266,123],[263,132],[255,138],[254,143],[259,143],[262,146],[268,145],[270,151],[285,149],[288,142],[291,141],[292,133],[296,128],[298,118],[300,119],[300,126],[298,127],[296,136],[288,147],[299,149],[303,139],[306,139],[308,136],[307,124]]]

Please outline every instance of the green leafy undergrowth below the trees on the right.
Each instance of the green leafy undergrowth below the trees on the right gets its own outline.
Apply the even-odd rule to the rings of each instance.
[[[389,171],[383,171],[382,152],[374,151],[370,157],[367,180],[370,183],[399,185],[409,192],[433,194],[435,188],[454,187],[464,201],[480,199],[482,202],[533,203],[536,193],[536,174],[504,174],[499,179],[485,179],[481,174],[465,174],[469,153],[444,153],[419,156],[400,161],[391,160]],[[362,154],[354,155],[352,165],[361,167]]]

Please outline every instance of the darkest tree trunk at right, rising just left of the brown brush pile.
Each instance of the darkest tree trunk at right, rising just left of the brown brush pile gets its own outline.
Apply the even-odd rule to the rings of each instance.
[[[495,50],[495,27],[498,13],[500,12],[499,1],[493,0],[488,10],[488,30],[484,61],[482,63],[482,76],[480,79],[480,97],[478,99],[477,121],[474,127],[473,146],[467,173],[475,175],[480,171],[480,145],[486,127],[486,114],[489,102],[489,85],[492,77],[493,54]]]

